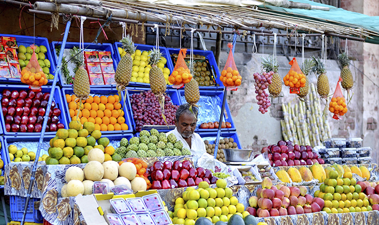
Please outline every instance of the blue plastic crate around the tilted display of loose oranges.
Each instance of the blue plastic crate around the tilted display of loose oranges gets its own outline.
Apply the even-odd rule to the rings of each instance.
[[[62,88],[62,95],[63,95],[63,99],[65,100],[65,112],[66,112],[66,117],[68,119],[68,123],[71,122],[71,117],[70,117],[70,111],[68,109],[68,104],[67,104],[67,101],[66,101],[66,94],[68,95],[73,95],[74,94],[74,88]],[[117,89],[116,88],[96,88],[96,87],[91,87],[90,88],[90,93],[89,95],[117,95]],[[122,92],[121,94],[121,102],[120,104],[122,105],[124,103],[124,92]],[[109,133],[130,133],[133,131],[133,127],[132,127],[132,123],[131,123],[131,120],[130,120],[130,116],[129,116],[129,108],[128,108],[128,104],[126,104],[127,101],[125,101],[125,105],[122,107],[122,109],[124,110],[124,117],[125,117],[125,123],[126,125],[128,125],[128,129],[127,130],[113,130],[113,131],[102,131],[103,134],[109,134]]]

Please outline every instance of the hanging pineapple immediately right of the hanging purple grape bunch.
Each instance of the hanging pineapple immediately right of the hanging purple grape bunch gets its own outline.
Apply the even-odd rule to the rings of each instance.
[[[268,85],[268,92],[273,98],[279,97],[281,93],[281,78],[277,73],[279,66],[274,62],[274,59],[271,56],[267,59],[262,57],[262,66],[266,72],[274,72],[271,78],[272,83]]]

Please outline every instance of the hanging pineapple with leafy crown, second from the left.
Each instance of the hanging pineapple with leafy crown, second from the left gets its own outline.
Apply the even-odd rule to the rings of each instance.
[[[121,58],[115,73],[115,81],[117,83],[117,91],[120,96],[124,91],[125,86],[129,84],[131,78],[131,72],[133,68],[133,59],[131,55],[135,52],[135,46],[131,39],[131,36],[127,35],[120,40],[122,43],[121,48],[125,50],[126,54]],[[121,101],[121,98],[119,98]]]

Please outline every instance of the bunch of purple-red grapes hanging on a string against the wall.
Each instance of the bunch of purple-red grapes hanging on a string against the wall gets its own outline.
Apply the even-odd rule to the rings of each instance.
[[[268,107],[271,105],[270,100],[267,98],[268,93],[264,90],[272,83],[271,78],[274,72],[263,72],[262,74],[254,73],[255,79],[255,93],[257,94],[256,99],[258,100],[259,109],[258,111],[265,114],[268,111]]]

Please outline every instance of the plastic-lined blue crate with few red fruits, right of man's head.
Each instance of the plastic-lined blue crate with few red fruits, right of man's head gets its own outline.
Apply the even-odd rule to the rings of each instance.
[[[181,101],[181,104],[184,104],[186,103],[185,101],[185,98],[184,98],[184,90],[178,90],[178,93],[179,93],[179,96],[180,96],[180,101]],[[219,107],[219,109],[221,110],[221,106],[222,106],[222,100],[224,98],[224,91],[221,91],[221,90],[213,90],[213,91],[210,91],[210,90],[204,90],[204,89],[201,89],[200,90],[200,101],[198,103],[199,106],[199,120],[198,120],[198,124],[196,124],[196,129],[195,131],[199,132],[213,132],[213,131],[217,131],[217,129],[200,129],[200,124],[203,123],[203,122],[218,122],[220,120],[220,116],[218,115],[215,119],[215,121],[206,121],[202,119],[201,117],[201,112],[204,111],[204,110],[211,110],[211,111],[215,111],[215,108],[213,109],[209,109],[209,108],[206,108],[208,106],[202,106],[202,97],[204,96],[217,96],[220,101],[217,102],[217,107]],[[212,105],[213,107],[216,107],[216,105]],[[231,113],[230,113],[230,110],[229,110],[229,106],[227,104],[227,101],[225,102],[225,110],[224,110],[224,118],[223,118],[223,121],[225,122],[229,122],[231,124],[231,128],[221,128],[221,131],[234,131],[236,130],[235,129],[235,125],[234,125],[234,122],[233,122],[233,119],[231,117]]]

